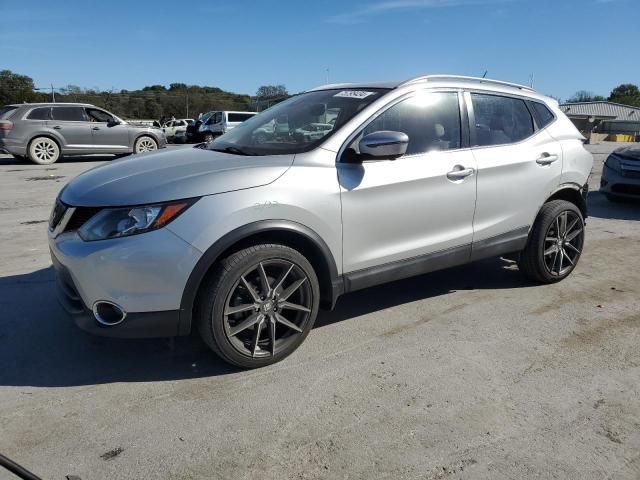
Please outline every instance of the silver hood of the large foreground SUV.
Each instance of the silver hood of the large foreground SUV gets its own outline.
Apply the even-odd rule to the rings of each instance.
[[[88,170],[69,182],[60,199],[76,207],[117,207],[232,192],[273,182],[293,158],[202,148],[160,150]]]

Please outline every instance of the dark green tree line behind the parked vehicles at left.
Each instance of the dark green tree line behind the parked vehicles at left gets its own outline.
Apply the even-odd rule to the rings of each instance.
[[[67,85],[51,92],[37,89],[33,79],[11,70],[0,71],[0,107],[11,103],[50,102],[90,103],[123,118],[158,119],[162,116],[196,118],[211,110],[252,110],[259,101],[288,95],[284,85],[264,85],[255,96],[227,92],[217,87],[172,83],[151,85],[141,90],[105,91]]]

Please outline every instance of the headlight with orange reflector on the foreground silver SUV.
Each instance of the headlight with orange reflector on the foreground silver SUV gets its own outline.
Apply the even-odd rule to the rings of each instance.
[[[197,199],[140,207],[105,208],[79,230],[84,241],[127,237],[162,228],[193,205]]]

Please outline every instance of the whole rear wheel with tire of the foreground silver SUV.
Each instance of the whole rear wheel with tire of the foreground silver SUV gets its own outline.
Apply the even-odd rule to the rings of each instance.
[[[583,245],[582,212],[571,202],[553,200],[540,210],[518,267],[536,282],[559,282],[578,264]]]

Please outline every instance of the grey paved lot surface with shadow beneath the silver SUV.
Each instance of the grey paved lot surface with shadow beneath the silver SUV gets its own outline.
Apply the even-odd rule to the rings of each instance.
[[[640,478],[640,205],[597,192],[557,285],[495,259],[371,288],[240,371],[197,338],[92,337],[54,298],[65,182],[0,156],[0,452],[47,479]],[[14,478],[0,471],[0,478]]]

